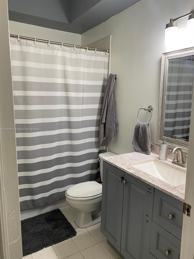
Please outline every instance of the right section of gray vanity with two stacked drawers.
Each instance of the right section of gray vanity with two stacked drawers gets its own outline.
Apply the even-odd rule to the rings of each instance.
[[[157,259],[180,258],[182,208],[181,201],[155,189],[150,253]]]

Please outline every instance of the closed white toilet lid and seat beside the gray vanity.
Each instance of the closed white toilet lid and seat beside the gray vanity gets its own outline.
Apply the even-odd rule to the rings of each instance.
[[[81,182],[67,189],[66,194],[75,198],[92,197],[102,193],[102,185],[98,182]]]

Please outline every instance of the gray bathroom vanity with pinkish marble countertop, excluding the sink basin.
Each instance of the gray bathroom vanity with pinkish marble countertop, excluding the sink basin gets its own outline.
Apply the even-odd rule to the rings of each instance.
[[[125,259],[180,257],[185,185],[132,167],[157,157],[134,152],[103,162],[101,231]]]

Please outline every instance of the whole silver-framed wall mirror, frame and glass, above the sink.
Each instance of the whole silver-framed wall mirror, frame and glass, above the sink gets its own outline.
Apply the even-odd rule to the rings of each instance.
[[[188,148],[194,48],[162,54],[157,141]]]

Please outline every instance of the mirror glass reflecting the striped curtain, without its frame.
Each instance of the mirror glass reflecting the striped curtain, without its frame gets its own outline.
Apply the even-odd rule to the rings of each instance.
[[[169,60],[164,136],[189,141],[193,89],[192,59]]]

